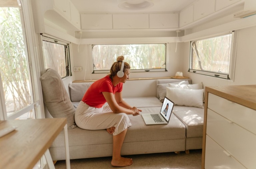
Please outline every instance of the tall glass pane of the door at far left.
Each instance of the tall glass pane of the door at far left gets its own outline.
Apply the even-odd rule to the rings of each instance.
[[[0,8],[0,87],[5,119],[36,118],[24,29],[18,3],[17,7]]]

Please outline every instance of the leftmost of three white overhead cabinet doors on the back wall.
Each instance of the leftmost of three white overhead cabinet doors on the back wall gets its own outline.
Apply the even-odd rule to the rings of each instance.
[[[81,29],[112,29],[112,14],[81,14]]]

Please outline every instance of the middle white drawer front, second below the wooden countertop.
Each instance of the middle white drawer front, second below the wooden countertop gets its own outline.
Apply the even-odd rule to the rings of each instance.
[[[207,109],[206,134],[246,168],[256,166],[256,135]]]

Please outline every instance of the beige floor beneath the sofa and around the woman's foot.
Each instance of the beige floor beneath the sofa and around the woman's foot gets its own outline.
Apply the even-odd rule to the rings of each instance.
[[[200,169],[202,150],[190,150],[189,154],[181,152],[175,154],[156,153],[156,154],[140,154],[124,156],[133,159],[131,166],[125,167],[127,169]],[[113,169],[124,167],[113,167],[110,164],[111,157],[87,158],[70,160],[71,169]],[[65,169],[65,160],[57,161],[56,169]]]

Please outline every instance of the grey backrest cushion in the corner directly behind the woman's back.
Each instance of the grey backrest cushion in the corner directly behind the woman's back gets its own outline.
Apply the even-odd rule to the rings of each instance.
[[[81,83],[71,83],[68,85],[70,92],[70,99],[72,102],[81,101],[84,93],[90,87],[93,82],[81,82]]]

